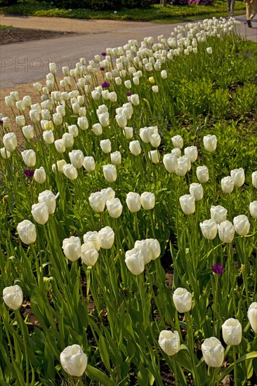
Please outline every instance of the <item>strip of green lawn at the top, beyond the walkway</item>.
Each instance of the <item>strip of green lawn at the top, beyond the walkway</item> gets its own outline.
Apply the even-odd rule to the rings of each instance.
[[[235,15],[244,13],[245,6],[243,1],[236,1]],[[123,8],[117,13],[114,11],[91,11],[88,9],[68,9],[53,8],[51,4],[37,3],[37,1],[22,2],[13,6],[1,7],[0,13],[8,13],[14,15],[30,15],[30,16],[52,16],[59,18],[77,18],[77,19],[109,19],[109,20],[138,20],[138,21],[154,21],[154,22],[177,22],[180,18],[194,20],[200,16],[213,17],[227,15],[226,1],[214,1],[212,6],[197,6],[190,4],[187,6],[166,5],[160,8],[158,4],[150,8],[126,9]]]

